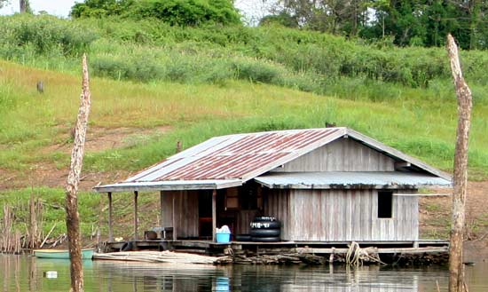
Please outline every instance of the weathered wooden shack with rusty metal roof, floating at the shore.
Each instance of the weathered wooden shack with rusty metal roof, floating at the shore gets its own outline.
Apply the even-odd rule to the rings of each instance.
[[[215,240],[221,225],[249,233],[254,217],[271,216],[282,241],[395,242],[419,239],[418,190],[450,186],[449,175],[373,138],[325,128],[210,138],[95,190],[108,193],[110,212],[111,193],[133,192],[135,217],[138,193],[160,192],[174,240]]]

